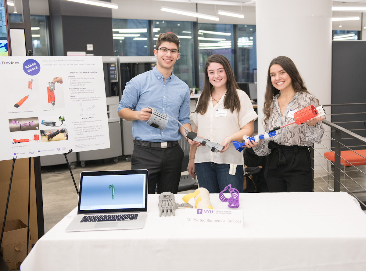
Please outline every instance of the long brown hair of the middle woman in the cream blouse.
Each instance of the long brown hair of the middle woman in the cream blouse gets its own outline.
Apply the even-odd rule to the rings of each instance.
[[[235,81],[234,72],[232,71],[229,61],[227,60],[226,57],[222,56],[221,54],[213,54],[212,56],[209,56],[208,59],[206,60],[205,71],[204,71],[205,83],[203,84],[203,90],[199,97],[196,110],[194,112],[203,115],[207,111],[207,105],[210,100],[211,93],[214,89],[214,87],[210,83],[207,73],[208,66],[211,63],[219,63],[223,65],[225,70],[227,81],[226,81],[226,94],[224,98],[224,107],[229,108],[231,110],[231,113],[234,112],[235,109],[239,111],[240,102],[236,90],[240,88]]]

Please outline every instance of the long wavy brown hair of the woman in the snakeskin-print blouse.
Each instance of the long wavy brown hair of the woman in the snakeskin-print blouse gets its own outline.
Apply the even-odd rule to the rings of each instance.
[[[266,87],[266,93],[264,95],[264,107],[263,107],[263,113],[265,116],[263,118],[264,128],[267,127],[267,122],[269,120],[269,116],[271,113],[270,106],[271,106],[272,98],[273,98],[273,96],[276,96],[277,94],[280,93],[280,91],[278,89],[273,87],[272,81],[271,81],[270,68],[274,64],[280,65],[285,70],[285,72],[287,72],[287,74],[290,76],[292,88],[294,89],[295,93],[296,92],[309,93],[309,91],[307,91],[307,89],[306,89],[306,86],[304,85],[304,81],[301,78],[301,75],[300,75],[298,69],[295,66],[294,61],[292,61],[287,56],[279,56],[279,57],[276,57],[275,59],[272,59],[271,63],[269,63],[269,67],[268,67],[267,87]],[[316,100],[318,101],[318,99],[316,99]]]

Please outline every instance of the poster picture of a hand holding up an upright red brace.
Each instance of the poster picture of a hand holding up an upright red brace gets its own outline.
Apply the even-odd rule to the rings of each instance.
[[[63,79],[62,77],[49,77],[46,79],[47,82],[42,84],[41,93],[44,94],[46,102],[44,107],[46,109],[63,108],[64,102],[64,91],[63,91]]]

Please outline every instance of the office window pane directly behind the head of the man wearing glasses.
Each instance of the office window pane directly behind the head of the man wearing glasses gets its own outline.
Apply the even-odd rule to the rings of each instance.
[[[173,32],[180,41],[179,59],[176,61],[173,72],[189,87],[195,86],[194,81],[194,46],[193,46],[193,22],[180,21],[153,21],[154,49],[160,33]]]

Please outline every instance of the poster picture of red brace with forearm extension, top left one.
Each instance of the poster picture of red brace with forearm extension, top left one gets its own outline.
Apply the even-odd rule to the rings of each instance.
[[[8,107],[16,112],[33,109],[38,101],[38,87],[36,79],[19,79],[12,87]],[[9,108],[9,109],[10,109]]]

